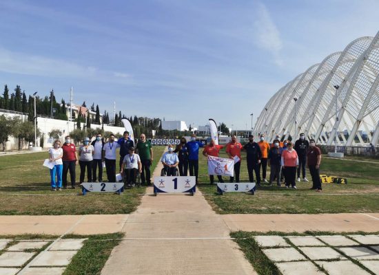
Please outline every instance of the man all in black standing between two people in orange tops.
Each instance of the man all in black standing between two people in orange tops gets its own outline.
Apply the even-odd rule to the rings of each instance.
[[[247,172],[249,172],[249,181],[254,181],[254,170],[256,175],[256,184],[260,186],[259,164],[260,158],[262,157],[262,152],[260,151],[258,143],[254,142],[254,135],[249,135],[249,142],[243,146],[242,150],[245,150],[247,153],[246,161]]]

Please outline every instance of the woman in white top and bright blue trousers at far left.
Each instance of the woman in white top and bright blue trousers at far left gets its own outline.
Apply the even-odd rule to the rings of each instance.
[[[55,165],[50,169],[51,177],[51,190],[56,191],[62,190],[62,172],[63,172],[63,149],[61,148],[61,142],[55,140],[52,144],[52,148],[49,150],[49,160],[50,162],[55,162]],[[55,177],[57,176],[57,181]]]

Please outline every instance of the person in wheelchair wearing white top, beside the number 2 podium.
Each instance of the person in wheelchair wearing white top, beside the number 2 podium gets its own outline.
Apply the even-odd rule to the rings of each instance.
[[[125,172],[125,173],[124,173]],[[142,172],[141,159],[138,154],[134,153],[134,147],[129,148],[129,154],[125,155],[123,164],[121,164],[120,173],[124,177],[126,187],[132,187],[136,184],[138,173]]]

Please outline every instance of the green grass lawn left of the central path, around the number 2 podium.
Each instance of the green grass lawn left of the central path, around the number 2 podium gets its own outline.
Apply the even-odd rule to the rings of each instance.
[[[163,146],[154,146],[153,171]],[[42,166],[48,153],[0,157],[0,214],[124,214],[136,209],[145,187],[125,190],[123,195],[88,193],[80,188],[61,192],[50,190],[50,173]],[[119,160],[116,160],[117,167]],[[80,168],[76,166],[76,183]],[[106,179],[105,169],[103,178]],[[70,184],[68,184],[70,185]],[[42,196],[41,196],[42,195]]]

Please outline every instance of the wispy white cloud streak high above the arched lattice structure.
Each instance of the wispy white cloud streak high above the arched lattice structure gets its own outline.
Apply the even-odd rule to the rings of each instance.
[[[280,33],[274,20],[263,3],[258,3],[254,28],[256,45],[270,52],[276,65],[283,65],[283,60],[280,58],[280,50],[283,47],[283,42],[280,39]]]

